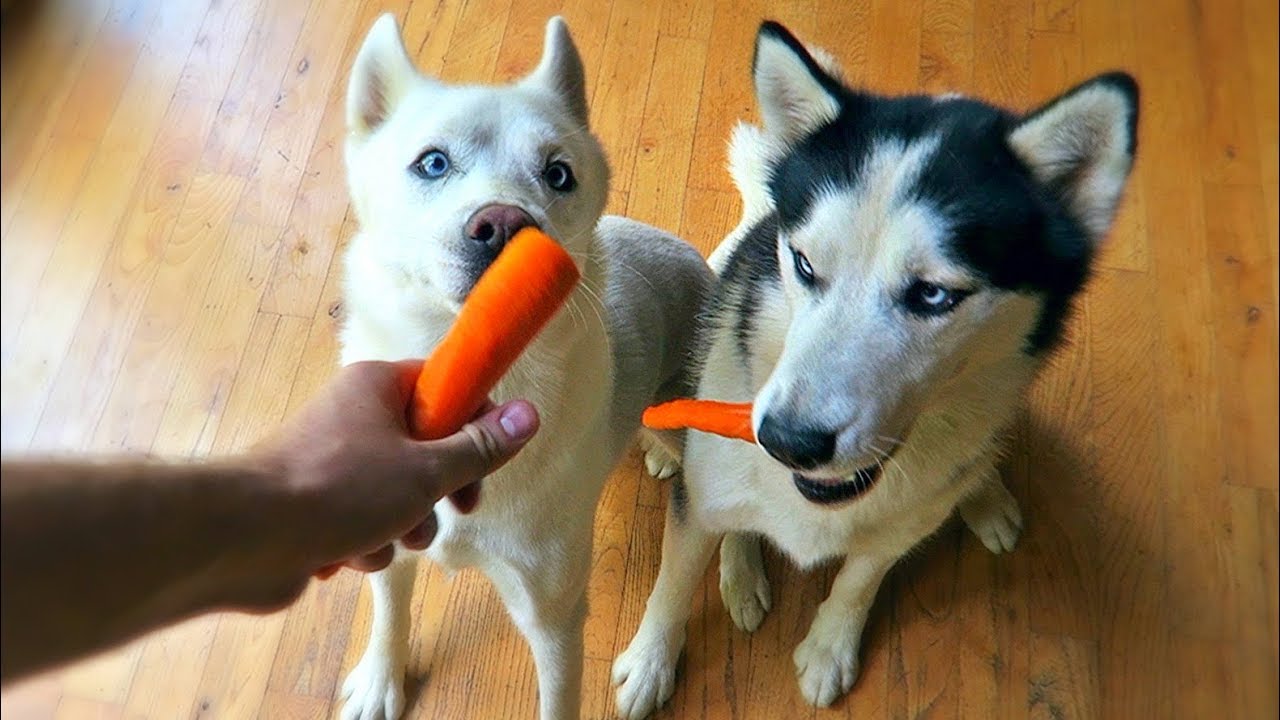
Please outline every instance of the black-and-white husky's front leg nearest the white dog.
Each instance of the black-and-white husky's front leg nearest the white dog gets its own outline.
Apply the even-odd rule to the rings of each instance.
[[[662,536],[662,566],[645,606],[640,629],[613,662],[618,714],[626,720],[645,717],[675,691],[676,661],[685,647],[685,624],[694,591],[716,551],[719,537],[689,512],[684,480],[671,486],[667,525]]]

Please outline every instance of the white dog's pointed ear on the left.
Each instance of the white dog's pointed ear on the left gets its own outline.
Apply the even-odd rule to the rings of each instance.
[[[396,17],[385,13],[374,22],[356,55],[347,85],[347,129],[367,135],[390,117],[417,77],[404,51]]]

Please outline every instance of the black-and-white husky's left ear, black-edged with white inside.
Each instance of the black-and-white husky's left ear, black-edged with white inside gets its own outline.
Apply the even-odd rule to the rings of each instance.
[[[787,28],[765,22],[751,60],[764,132],[791,142],[840,114],[840,81],[831,77]]]

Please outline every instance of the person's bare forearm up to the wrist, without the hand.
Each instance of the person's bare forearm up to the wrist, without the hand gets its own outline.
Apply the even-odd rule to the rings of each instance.
[[[289,511],[273,479],[255,460],[6,461],[3,678],[200,611],[292,598],[310,569],[270,542]]]

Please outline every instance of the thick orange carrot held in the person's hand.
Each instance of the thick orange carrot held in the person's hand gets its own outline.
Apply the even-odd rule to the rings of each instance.
[[[448,437],[474,418],[577,278],[577,265],[554,240],[532,228],[516,233],[422,364],[410,407],[413,436]]]

